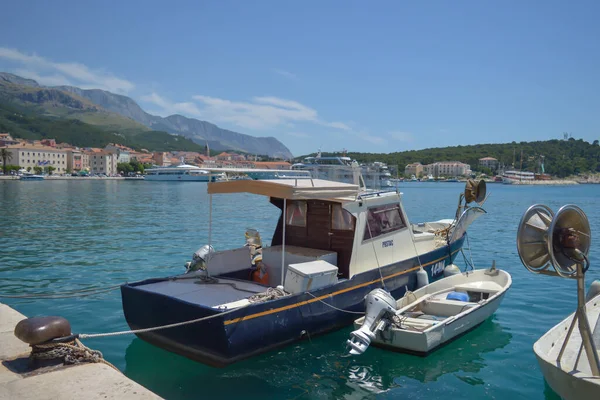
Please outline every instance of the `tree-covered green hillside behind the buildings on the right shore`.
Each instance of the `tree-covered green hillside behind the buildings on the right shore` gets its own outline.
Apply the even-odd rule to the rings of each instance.
[[[521,151],[523,158],[521,160]],[[323,153],[323,156],[334,155]],[[543,156],[545,172],[565,177],[587,172],[600,172],[600,145],[598,140],[588,143],[582,139],[546,140],[538,142],[512,142],[503,144],[477,144],[472,146],[453,146],[412,150],[396,153],[358,153],[350,152],[348,157],[358,162],[385,162],[398,166],[400,174],[407,164],[420,162],[431,164],[436,161],[460,161],[471,165],[474,171],[486,171],[479,167],[479,159],[494,157],[506,168],[513,164],[515,168],[540,172],[540,160]]]

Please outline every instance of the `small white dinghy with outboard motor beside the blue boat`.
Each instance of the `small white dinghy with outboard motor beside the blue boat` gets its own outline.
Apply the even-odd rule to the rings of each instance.
[[[490,269],[440,279],[397,302],[381,289],[373,291],[366,298],[366,315],[354,321],[357,330],[348,340],[350,354],[362,354],[371,342],[427,354],[488,319],[511,283],[510,274],[494,263]]]

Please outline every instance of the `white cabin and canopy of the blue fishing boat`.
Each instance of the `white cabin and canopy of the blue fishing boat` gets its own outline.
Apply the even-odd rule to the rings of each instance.
[[[291,264],[325,261],[337,267],[337,279],[350,279],[445,244],[436,241],[434,231],[448,222],[411,225],[396,191],[360,192],[353,184],[286,179],[214,182],[208,192],[264,195],[281,210],[271,246],[262,248],[272,287],[285,284]],[[244,246],[214,253],[209,274],[248,279],[249,252]]]

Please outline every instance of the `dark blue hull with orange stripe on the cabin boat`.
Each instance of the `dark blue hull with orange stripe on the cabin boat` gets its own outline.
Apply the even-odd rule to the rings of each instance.
[[[462,247],[464,237],[450,248],[441,247],[421,256],[430,281],[442,276],[432,267],[451,263]],[[436,261],[437,260],[437,261]],[[434,262],[436,261],[436,262]],[[418,260],[411,259],[381,268],[385,288],[394,298],[415,290]],[[406,272],[405,272],[406,271]],[[138,287],[162,279],[123,285],[123,311],[132,329],[148,328],[214,315],[211,307],[191,304],[171,296],[140,290]],[[337,311],[364,311],[364,297],[381,287],[380,271],[375,269],[342,281],[335,286],[253,304],[232,313],[177,328],[138,334],[141,339],[205,364],[222,367],[245,358],[352,324],[356,314]]]

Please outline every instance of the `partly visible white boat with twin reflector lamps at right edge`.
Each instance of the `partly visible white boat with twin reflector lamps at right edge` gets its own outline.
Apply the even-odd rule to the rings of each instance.
[[[590,245],[587,216],[573,205],[556,216],[544,205],[531,206],[519,225],[517,247],[528,270],[577,280],[577,310],[533,345],[546,382],[566,400],[600,399],[599,281],[585,298]]]

